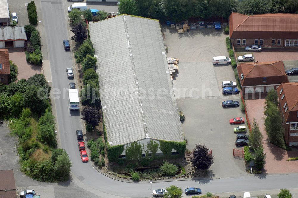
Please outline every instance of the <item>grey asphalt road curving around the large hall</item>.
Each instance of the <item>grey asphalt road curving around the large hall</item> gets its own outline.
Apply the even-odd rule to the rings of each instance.
[[[46,31],[49,61],[52,72],[52,91],[64,92],[55,99],[57,111],[58,135],[62,148],[66,150],[72,161],[72,181],[81,188],[99,195],[99,197],[148,197],[150,183],[119,182],[100,174],[91,163],[82,163],[77,148],[75,130],[82,129],[79,112],[70,112],[68,109],[69,80],[66,77],[66,68],[72,67],[73,60],[70,52],[63,49],[63,39],[70,39],[66,24],[66,2],[61,0],[41,1],[44,27]],[[56,95],[58,96],[58,95]],[[54,99],[52,99],[53,101]],[[182,189],[195,186],[200,187],[203,193],[235,192],[270,190],[280,188],[296,188],[297,174],[268,175],[266,177],[244,176],[237,178],[221,178],[206,180],[187,180],[177,182],[153,183],[152,188],[165,188],[177,185]],[[63,185],[63,184],[62,184]],[[67,184],[64,184],[67,185]],[[107,194],[105,194],[107,193]]]

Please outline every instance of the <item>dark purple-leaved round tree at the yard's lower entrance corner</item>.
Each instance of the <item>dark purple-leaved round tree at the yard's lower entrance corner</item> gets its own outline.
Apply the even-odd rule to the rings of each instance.
[[[198,169],[208,169],[213,164],[213,156],[209,153],[207,146],[203,144],[195,145],[193,157],[190,158],[193,166]]]

